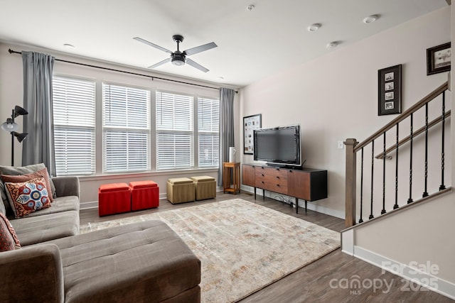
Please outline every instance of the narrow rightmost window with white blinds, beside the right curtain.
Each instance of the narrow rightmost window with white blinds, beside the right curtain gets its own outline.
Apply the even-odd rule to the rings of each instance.
[[[220,154],[220,101],[198,98],[199,167],[218,167]]]

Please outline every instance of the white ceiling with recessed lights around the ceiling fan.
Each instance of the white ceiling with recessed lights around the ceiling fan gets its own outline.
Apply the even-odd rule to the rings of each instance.
[[[248,5],[255,9],[249,11]],[[210,71],[171,63],[156,71],[242,87],[447,6],[446,0],[0,0],[0,40],[146,68],[176,50]],[[375,23],[362,22],[378,14]],[[310,33],[306,28],[321,23]],[[74,49],[65,48],[69,43]]]

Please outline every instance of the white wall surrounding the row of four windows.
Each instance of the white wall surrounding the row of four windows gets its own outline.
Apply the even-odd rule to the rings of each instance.
[[[199,82],[194,79],[182,79],[171,77],[168,75],[160,75],[149,70],[133,69],[131,67],[124,67],[113,65],[109,62],[92,61],[84,57],[75,57],[65,53],[55,53],[51,50],[43,50],[33,48],[26,45],[11,45],[8,43],[0,43],[0,119],[1,123],[6,121],[6,118],[11,116],[11,109],[15,105],[22,106],[23,104],[23,67],[21,55],[9,54],[8,49],[21,51],[33,50],[41,53],[49,53],[58,59],[70,60],[74,62],[81,62],[90,65],[101,65],[103,67],[126,70],[129,72],[137,72],[139,74],[153,75],[155,77],[164,77],[167,79],[176,79],[184,82],[191,82],[196,84],[208,85],[210,87],[219,87],[219,84]],[[75,77],[83,77],[88,79],[95,79],[97,87],[100,87],[102,81],[109,81],[119,84],[131,84],[136,87],[144,87],[146,89],[168,89],[174,92],[192,92],[199,94],[203,97],[219,97],[218,89],[206,89],[203,87],[194,87],[186,84],[176,84],[173,82],[166,82],[159,79],[153,81],[148,77],[140,77],[134,75],[127,75],[119,72],[109,72],[99,70],[92,67],[82,67],[80,65],[73,65],[64,62],[55,61],[54,75],[69,75]],[[97,90],[97,101],[100,101],[101,92]],[[235,100],[235,112],[238,114],[239,102]],[[100,118],[100,114],[97,115]],[[19,126],[22,126],[22,117],[19,116],[16,120]],[[152,125],[154,121],[151,121]],[[238,126],[237,126],[238,128]],[[22,128],[19,128],[19,132]],[[238,132],[238,129],[237,129]],[[100,133],[100,130],[97,130]],[[100,138],[98,136],[97,138]],[[153,140],[152,140],[153,141]],[[11,136],[5,131],[0,131],[0,165],[11,165]],[[14,163],[16,166],[21,165],[21,148],[22,145],[16,140],[14,141],[15,158]],[[97,141],[97,159],[100,159],[101,147],[100,142]],[[151,148],[154,148],[152,144]],[[153,154],[153,153],[152,153]],[[152,163],[154,159],[152,159]],[[146,172],[139,174],[129,175],[102,175],[102,163],[97,161],[97,175],[90,177],[80,177],[81,186],[81,202],[96,202],[97,189],[100,184],[109,182],[131,182],[137,180],[154,180],[159,184],[160,196],[164,197],[166,194],[166,180],[169,177],[190,177],[196,175],[210,175],[218,179],[218,169],[210,170],[181,170],[177,172]],[[95,204],[96,205],[96,204]]]

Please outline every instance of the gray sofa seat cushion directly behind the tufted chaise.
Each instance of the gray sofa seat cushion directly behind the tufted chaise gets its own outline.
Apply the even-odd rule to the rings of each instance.
[[[51,207],[52,208],[52,207]],[[11,220],[21,246],[55,240],[79,233],[79,211]]]

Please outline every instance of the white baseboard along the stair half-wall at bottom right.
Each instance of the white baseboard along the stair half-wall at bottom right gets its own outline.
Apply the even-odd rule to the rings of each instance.
[[[410,282],[414,282],[414,285],[411,283],[405,283],[402,287],[402,291],[419,290],[420,286],[422,286],[432,290],[433,292],[449,297],[450,299],[455,299],[454,283],[441,279],[431,273],[417,270],[416,268],[421,267],[419,264],[415,264],[416,268],[414,268],[414,266],[410,267],[410,264],[407,265],[399,263],[359,246],[354,246],[353,255],[360,260],[364,260],[365,262],[381,268],[383,271],[392,272],[393,274],[403,277]],[[427,266],[428,268],[431,264],[425,264],[424,266]],[[419,285],[419,288],[417,288],[415,284]]]

